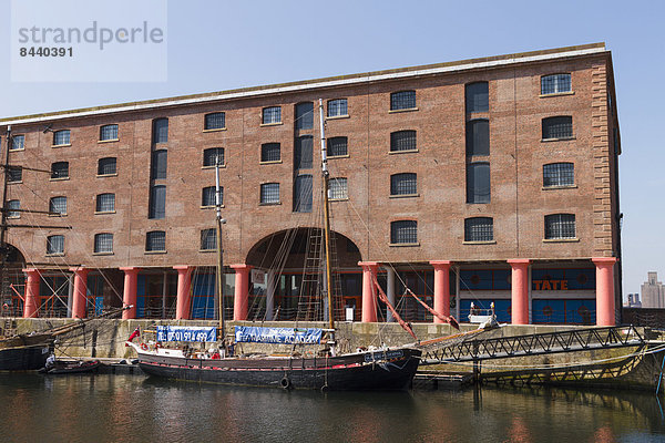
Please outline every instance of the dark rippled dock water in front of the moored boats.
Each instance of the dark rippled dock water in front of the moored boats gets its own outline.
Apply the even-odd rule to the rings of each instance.
[[[341,393],[135,375],[0,374],[8,442],[656,442],[649,393],[498,389]]]

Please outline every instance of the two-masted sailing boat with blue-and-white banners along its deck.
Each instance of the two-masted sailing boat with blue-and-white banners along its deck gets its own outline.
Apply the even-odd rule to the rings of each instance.
[[[323,100],[319,100],[321,134],[321,176],[324,196],[324,235],[325,235],[325,280],[331,281],[330,274],[330,223],[328,205],[328,165],[324,128]],[[401,390],[410,385],[420,362],[421,351],[415,344],[403,347],[381,347],[374,350],[338,354],[335,342],[335,317],[332,313],[331,290],[324,285],[327,292],[328,329],[296,328],[258,328],[236,327],[235,337],[224,337],[224,316],[222,297],[222,224],[219,202],[219,176],[216,169],[217,188],[217,288],[219,296],[219,340],[218,350],[192,352],[185,349],[171,349],[160,346],[161,340],[168,340],[170,334],[180,339],[196,338],[206,341],[212,331],[206,328],[157,327],[157,342],[126,342],[139,356],[139,365],[151,375],[168,379],[206,381],[235,385],[276,387],[283,389],[320,389],[320,390]],[[402,321],[388,302],[378,282],[379,297],[387,303],[393,317],[416,338],[410,326]],[[214,328],[213,328],[214,329]],[[324,332],[329,347],[318,356],[303,357],[291,353],[284,356],[234,356],[235,343],[269,342],[288,344],[320,344]],[[180,337],[178,337],[180,334]],[[178,340],[181,341],[181,340]],[[295,348],[295,347],[294,347]]]

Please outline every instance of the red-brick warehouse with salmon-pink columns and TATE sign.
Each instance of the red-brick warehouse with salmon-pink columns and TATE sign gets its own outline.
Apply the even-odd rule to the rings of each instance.
[[[126,318],[214,318],[218,159],[226,316],[293,319],[323,99],[338,286],[357,320],[386,319],[378,274],[410,321],[431,316],[405,286],[462,321],[493,301],[500,321],[614,324],[614,97],[596,43],[4,119],[4,315],[124,300]]]

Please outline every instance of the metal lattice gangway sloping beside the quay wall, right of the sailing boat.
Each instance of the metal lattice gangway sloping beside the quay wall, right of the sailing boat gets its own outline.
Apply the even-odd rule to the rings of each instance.
[[[479,338],[459,334],[450,341],[421,346],[420,364],[479,362],[596,349],[640,347],[647,343],[634,326],[572,329],[513,337]]]

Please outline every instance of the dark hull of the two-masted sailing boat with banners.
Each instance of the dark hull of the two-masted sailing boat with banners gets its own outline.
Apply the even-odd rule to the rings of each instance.
[[[332,358],[185,359],[139,353],[151,375],[196,382],[331,391],[403,390],[420,361],[411,348]]]

